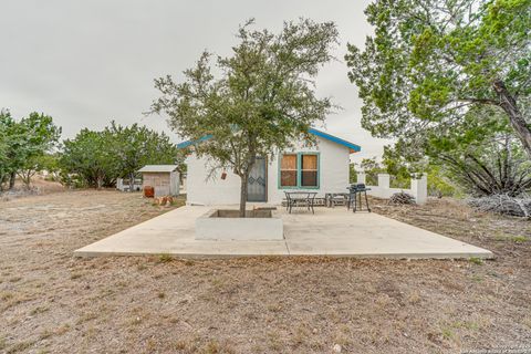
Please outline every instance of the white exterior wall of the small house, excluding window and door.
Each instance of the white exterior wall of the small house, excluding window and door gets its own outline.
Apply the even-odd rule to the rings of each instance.
[[[320,187],[311,189],[317,192],[317,197],[324,197],[325,192],[344,192],[348,186],[348,148],[326,139],[317,137],[317,145],[313,147],[298,144],[298,147],[289,152],[319,153]],[[227,171],[227,178],[221,179],[221,170],[216,171],[207,180],[209,166],[206,158],[197,158],[190,155],[187,160],[187,202],[189,205],[231,205],[240,200],[240,177],[232,171]],[[268,204],[280,204],[284,198],[284,190],[279,189],[279,158],[275,156],[268,164]],[[296,189],[305,190],[305,189]],[[310,189],[309,189],[310,190]]]

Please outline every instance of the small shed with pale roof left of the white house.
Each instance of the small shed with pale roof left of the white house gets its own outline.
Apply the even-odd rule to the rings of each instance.
[[[179,171],[177,165],[146,165],[138,171],[142,174],[142,188],[150,186],[155,197],[179,195]]]

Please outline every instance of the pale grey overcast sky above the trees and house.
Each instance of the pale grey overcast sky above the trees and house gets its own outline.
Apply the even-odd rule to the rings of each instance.
[[[336,22],[341,62],[325,66],[317,93],[344,110],[330,116],[326,132],[362,146],[358,157],[381,155],[383,140],[361,125],[361,101],[343,62],[346,43],[363,45],[371,33],[367,0],[2,0],[0,2],[0,107],[15,117],[32,111],[53,116],[63,138],[83,127],[101,129],[111,119],[165,131],[165,118],[143,116],[157,96],[155,77],[177,80],[207,49],[230,53],[238,24],[279,30],[284,20],[308,17]],[[357,158],[356,158],[357,159]]]

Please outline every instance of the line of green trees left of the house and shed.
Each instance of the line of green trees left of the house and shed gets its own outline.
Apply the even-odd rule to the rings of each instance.
[[[19,177],[27,188],[38,171],[70,187],[112,187],[117,178],[131,184],[145,165],[177,164],[183,152],[164,133],[115,122],[103,131],[82,129],[60,142],[61,128],[51,116],[31,113],[19,121],[0,111],[0,191],[13,189]]]

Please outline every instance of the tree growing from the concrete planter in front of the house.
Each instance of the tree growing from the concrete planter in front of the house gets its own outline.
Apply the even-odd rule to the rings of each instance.
[[[313,142],[311,124],[331,111],[329,98],[316,97],[314,80],[337,44],[332,22],[284,22],[278,34],[252,24],[239,29],[232,54],[217,58],[215,70],[211,54],[204,53],[196,67],[185,71],[184,82],[156,80],[163,95],[152,107],[166,113],[181,137],[209,137],[195,153],[209,158],[212,170],[227,168],[240,177],[240,217],[257,157],[272,158],[301,138]]]

